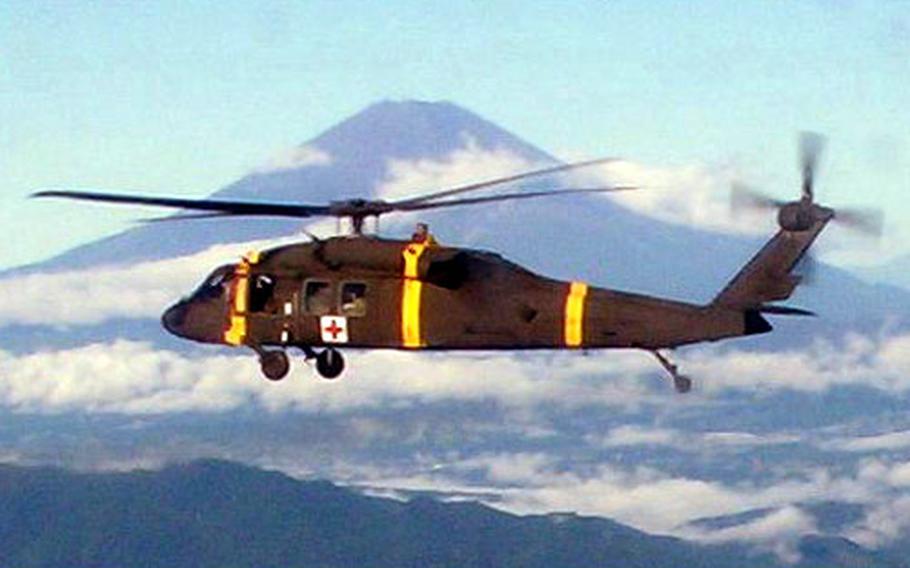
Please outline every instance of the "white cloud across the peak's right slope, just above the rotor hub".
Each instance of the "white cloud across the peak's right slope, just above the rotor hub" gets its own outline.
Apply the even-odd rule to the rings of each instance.
[[[389,160],[386,178],[376,193],[380,199],[403,199],[545,166],[506,148],[484,148],[474,138],[464,137],[462,148],[440,160]]]

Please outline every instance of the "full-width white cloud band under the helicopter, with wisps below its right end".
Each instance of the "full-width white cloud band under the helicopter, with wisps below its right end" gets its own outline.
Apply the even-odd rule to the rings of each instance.
[[[147,309],[147,307],[146,307]],[[86,312],[89,317],[92,312]],[[71,314],[71,321],[76,313]],[[644,404],[705,406],[730,391],[822,392],[847,384],[888,392],[910,387],[910,336],[881,342],[820,342],[807,352],[695,351],[684,366],[700,377],[682,396],[651,380],[660,369],[636,351],[591,354],[534,352],[409,353],[351,351],[348,379],[316,380],[295,361],[292,376],[270,384],[259,377],[251,351],[199,348],[191,354],[145,343],[114,341],[62,351],[13,355],[0,351],[0,406],[23,412],[159,413],[225,410],[250,402],[269,411],[341,412],[457,400],[496,401],[506,409],[583,408],[634,411]],[[861,451],[905,443],[906,434],[880,440],[822,442],[823,448]],[[738,451],[800,441],[787,433],[678,431],[620,426],[592,443],[605,448],[664,445],[698,452]],[[825,446],[828,444],[828,446]]]

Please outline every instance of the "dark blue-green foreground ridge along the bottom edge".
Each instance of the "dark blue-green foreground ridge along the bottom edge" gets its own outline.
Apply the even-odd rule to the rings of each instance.
[[[849,541],[804,544],[804,566],[893,566]],[[832,552],[833,550],[833,552]],[[221,461],[79,474],[0,467],[0,564],[54,567],[749,567],[605,519],[516,516],[475,503],[369,497]]]

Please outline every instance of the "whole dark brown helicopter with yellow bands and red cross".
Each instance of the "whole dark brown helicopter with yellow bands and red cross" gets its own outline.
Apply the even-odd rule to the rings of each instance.
[[[779,231],[706,305],[563,282],[537,275],[499,254],[443,246],[432,239],[391,240],[364,234],[364,221],[393,212],[479,205],[554,195],[635,189],[569,188],[492,196],[464,194],[601,164],[562,164],[398,201],[349,199],[325,205],[182,199],[86,191],[41,191],[35,197],[176,208],[164,220],[264,215],[349,219],[351,235],[252,251],[215,269],[162,316],[170,333],[186,339],[246,346],[263,375],[283,379],[288,348],[315,359],[326,379],[344,370],[339,348],[406,350],[642,349],[667,371],[677,391],[692,380],[664,350],[767,333],[765,315],[810,316],[774,302],[800,283],[792,274],[816,237],[838,218],[874,231],[867,216],[835,212],[814,202],[821,138],[804,135],[802,194],[779,202],[737,189],[736,201],[778,210]]]

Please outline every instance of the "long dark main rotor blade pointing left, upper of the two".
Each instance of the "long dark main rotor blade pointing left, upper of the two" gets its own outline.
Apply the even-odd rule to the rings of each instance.
[[[81,201],[104,203],[125,203],[129,205],[150,205],[196,211],[215,211],[225,215],[271,215],[276,217],[312,217],[331,213],[325,205],[295,205],[289,203],[256,203],[250,201],[222,201],[217,199],[182,199],[175,197],[152,197],[146,195],[124,195],[93,191],[39,191],[32,197],[59,197]]]

